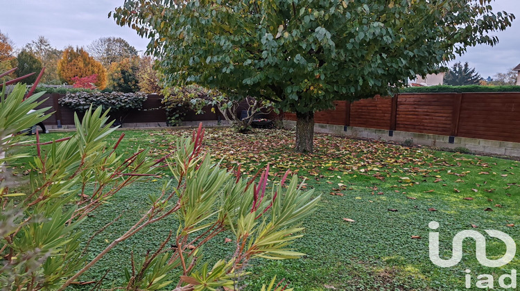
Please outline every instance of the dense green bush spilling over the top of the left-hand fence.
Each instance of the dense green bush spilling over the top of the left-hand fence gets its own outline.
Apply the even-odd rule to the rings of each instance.
[[[103,110],[109,108],[112,111],[139,109],[143,107],[144,101],[148,98],[146,93],[122,93],[122,92],[78,92],[67,93],[58,102],[62,106],[67,106],[77,112],[85,112],[89,107],[103,107]]]

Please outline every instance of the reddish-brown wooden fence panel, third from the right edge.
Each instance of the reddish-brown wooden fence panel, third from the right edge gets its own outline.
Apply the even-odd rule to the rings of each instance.
[[[350,105],[350,126],[390,129],[392,98],[376,96]]]

